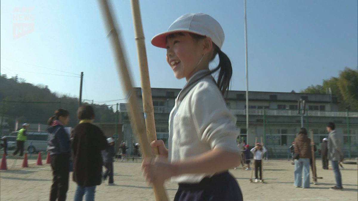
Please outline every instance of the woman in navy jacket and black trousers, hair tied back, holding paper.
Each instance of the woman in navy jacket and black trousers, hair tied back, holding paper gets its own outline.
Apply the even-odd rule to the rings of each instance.
[[[67,125],[68,121],[69,112],[65,109],[58,109],[55,111],[55,115],[50,117],[47,122],[50,126],[47,128],[49,133],[47,150],[50,152],[53,173],[50,201],[66,200],[71,142],[64,126]]]

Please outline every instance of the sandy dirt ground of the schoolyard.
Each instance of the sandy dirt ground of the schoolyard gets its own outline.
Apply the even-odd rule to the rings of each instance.
[[[37,166],[35,160],[29,160],[29,168],[21,168],[21,160],[8,159],[9,170],[0,171],[1,201],[46,201],[52,184],[52,171],[48,164]],[[43,161],[45,162],[45,161]],[[115,186],[105,181],[96,188],[97,201],[150,201],[154,200],[153,191],[146,184],[140,170],[140,162],[114,162]],[[317,160],[317,164],[320,161]],[[265,183],[250,183],[251,170],[230,170],[237,179],[244,200],[358,200],[357,165],[344,165],[341,171],[344,191],[329,190],[335,185],[332,170],[317,167],[319,185],[310,188],[295,188],[293,185],[294,165],[287,160],[269,160],[264,162]],[[70,174],[67,200],[73,200],[76,183]],[[165,185],[170,200],[173,200],[178,186],[175,183]]]

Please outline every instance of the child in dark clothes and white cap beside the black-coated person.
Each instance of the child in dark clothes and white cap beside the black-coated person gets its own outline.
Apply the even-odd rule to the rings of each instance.
[[[103,180],[109,177],[108,185],[114,185],[113,181],[113,157],[115,156],[114,151],[114,140],[113,138],[107,138],[108,147],[102,151],[103,165],[106,167],[105,173],[103,173]]]

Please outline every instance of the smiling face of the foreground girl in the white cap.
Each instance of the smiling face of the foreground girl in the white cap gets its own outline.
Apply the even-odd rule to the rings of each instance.
[[[203,40],[195,40],[189,33],[175,33],[166,39],[166,61],[177,79],[187,80],[198,70],[205,68],[199,60],[205,54]],[[198,65],[198,67],[197,67]]]

